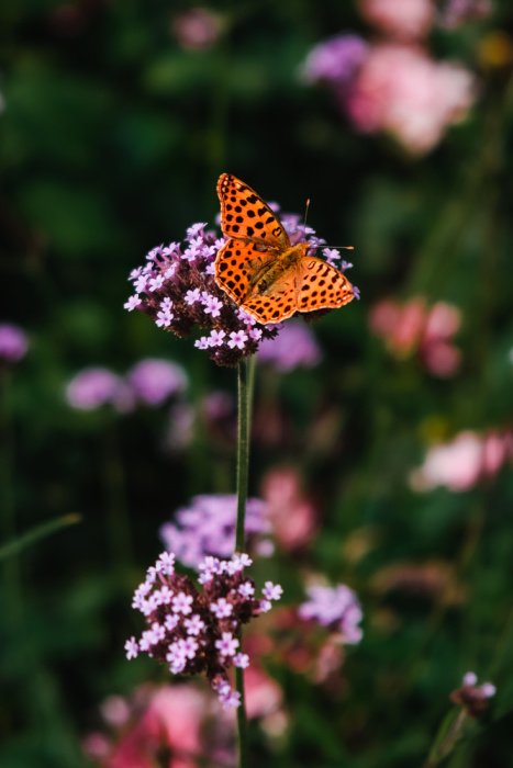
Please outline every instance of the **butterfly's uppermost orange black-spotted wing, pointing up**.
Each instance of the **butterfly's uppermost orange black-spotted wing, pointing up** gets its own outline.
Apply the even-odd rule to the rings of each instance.
[[[282,224],[261,197],[239,179],[223,173],[218,182],[221,227],[227,237],[261,242],[278,251],[290,248]]]

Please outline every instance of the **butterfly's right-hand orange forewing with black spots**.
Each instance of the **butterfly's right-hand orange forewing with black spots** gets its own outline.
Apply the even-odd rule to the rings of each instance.
[[[298,264],[295,291],[299,312],[336,309],[355,297],[346,275],[313,256],[305,256]]]

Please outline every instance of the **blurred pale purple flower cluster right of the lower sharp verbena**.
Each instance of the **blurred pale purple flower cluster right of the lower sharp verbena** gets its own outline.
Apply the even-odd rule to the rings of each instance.
[[[313,620],[338,632],[344,643],[359,643],[363,631],[358,624],[363,613],[353,589],[345,584],[336,587],[312,586],[306,589],[306,594],[310,599],[298,609],[301,619]]]

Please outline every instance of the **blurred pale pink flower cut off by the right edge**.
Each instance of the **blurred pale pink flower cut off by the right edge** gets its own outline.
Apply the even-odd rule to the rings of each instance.
[[[412,472],[413,490],[469,490],[482,479],[493,477],[513,458],[513,431],[492,431],[484,436],[467,430],[449,443],[430,449],[421,467]]]

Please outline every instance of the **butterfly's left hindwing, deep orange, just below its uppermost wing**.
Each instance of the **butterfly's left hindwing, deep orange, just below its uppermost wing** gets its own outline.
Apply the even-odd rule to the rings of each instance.
[[[215,282],[239,305],[276,259],[272,249],[257,249],[258,244],[233,237],[215,259]]]

